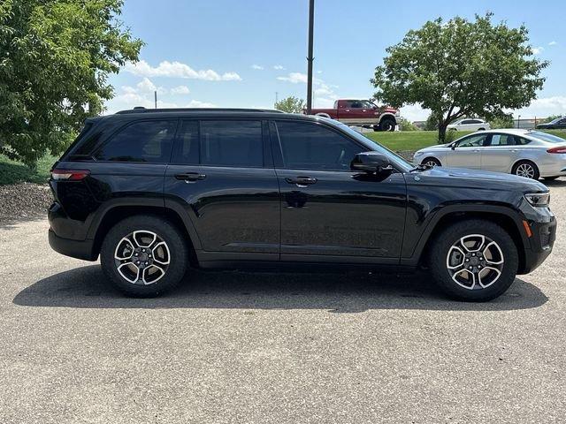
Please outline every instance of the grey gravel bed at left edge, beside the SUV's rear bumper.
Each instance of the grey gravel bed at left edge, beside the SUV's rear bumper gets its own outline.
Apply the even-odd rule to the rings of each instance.
[[[46,184],[0,186],[0,223],[45,216],[53,196]]]

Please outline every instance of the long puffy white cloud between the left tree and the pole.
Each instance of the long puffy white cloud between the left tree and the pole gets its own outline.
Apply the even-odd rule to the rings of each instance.
[[[151,66],[145,60],[135,64],[128,62],[124,71],[133,73],[140,77],[172,77],[187,79],[203,79],[207,81],[240,81],[241,77],[236,72],[225,72],[220,75],[211,69],[195,71],[188,64],[180,62],[169,62],[164,60],[156,67]]]

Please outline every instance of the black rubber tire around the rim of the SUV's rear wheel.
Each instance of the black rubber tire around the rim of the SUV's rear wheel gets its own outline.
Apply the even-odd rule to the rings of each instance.
[[[134,231],[152,231],[168,247],[169,264],[166,266],[164,276],[160,277],[155,283],[147,285],[130,283],[119,273],[117,265],[119,262],[115,260],[114,252],[118,248],[120,240]],[[157,259],[157,254],[155,256],[154,259]],[[114,225],[106,234],[100,252],[100,263],[106,276],[119,291],[137,298],[155,297],[172,290],[185,275],[188,267],[187,241],[182,236],[182,232],[164,218],[150,215],[130,216]],[[148,270],[148,272],[152,271]],[[134,278],[132,279],[134,280]]]

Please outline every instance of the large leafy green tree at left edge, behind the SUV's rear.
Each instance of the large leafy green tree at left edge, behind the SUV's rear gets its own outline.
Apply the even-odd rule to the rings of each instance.
[[[123,0],[2,0],[0,153],[34,166],[69,145],[113,95],[110,73],[142,41],[118,16]]]

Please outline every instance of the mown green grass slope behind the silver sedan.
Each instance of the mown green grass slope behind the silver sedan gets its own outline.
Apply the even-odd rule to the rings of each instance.
[[[456,140],[470,132],[458,131],[453,140]],[[566,130],[548,130],[547,133],[555,134],[566,139]],[[402,150],[418,150],[427,148],[437,143],[438,133],[436,131],[394,131],[392,133],[363,133],[371,140],[390,148],[395,152]]]

